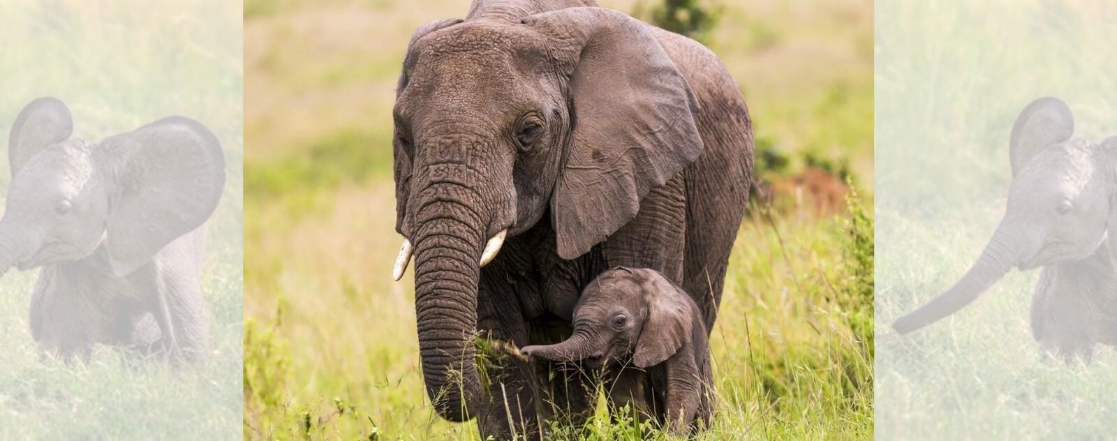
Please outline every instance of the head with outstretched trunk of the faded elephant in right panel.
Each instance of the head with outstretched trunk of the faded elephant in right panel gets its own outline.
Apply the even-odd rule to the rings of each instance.
[[[1117,143],[1071,137],[1061,100],[1038,99],[1010,137],[1012,183],[1004,218],[977,261],[954,287],[892,325],[909,333],[976,299],[1010,269],[1028,270],[1089,257],[1117,242]],[[1108,242],[1108,243],[1106,243]]]

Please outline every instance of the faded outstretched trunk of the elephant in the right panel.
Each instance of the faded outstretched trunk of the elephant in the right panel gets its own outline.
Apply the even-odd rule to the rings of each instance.
[[[1014,234],[1002,222],[990,239],[981,257],[954,286],[915,311],[892,324],[900,334],[930,325],[974,301],[982,293],[1001,279],[1020,258],[1020,247]]]

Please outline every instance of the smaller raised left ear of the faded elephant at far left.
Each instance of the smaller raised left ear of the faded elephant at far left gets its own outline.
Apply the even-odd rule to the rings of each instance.
[[[31,102],[16,116],[8,135],[8,165],[15,176],[44,147],[66,141],[74,134],[69,108],[58,98]]]

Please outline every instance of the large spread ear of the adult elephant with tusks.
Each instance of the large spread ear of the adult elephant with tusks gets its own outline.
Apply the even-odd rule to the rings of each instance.
[[[551,211],[558,256],[573,259],[698,159],[698,102],[651,29],[631,17],[569,8],[523,21],[554,40],[560,70],[570,75],[574,122]]]

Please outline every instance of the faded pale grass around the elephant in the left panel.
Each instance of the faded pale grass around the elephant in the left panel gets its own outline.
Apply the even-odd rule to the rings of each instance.
[[[98,347],[90,363],[42,359],[27,324],[38,270],[0,280],[0,439],[238,439],[241,424],[241,8],[200,1],[0,3],[0,134],[42,95],[88,140],[170,115],[208,125],[228,178],[209,223],[203,289],[209,363],[172,371]],[[7,146],[7,142],[4,142]],[[4,153],[7,157],[7,153]],[[0,165],[0,192],[8,164]]]

